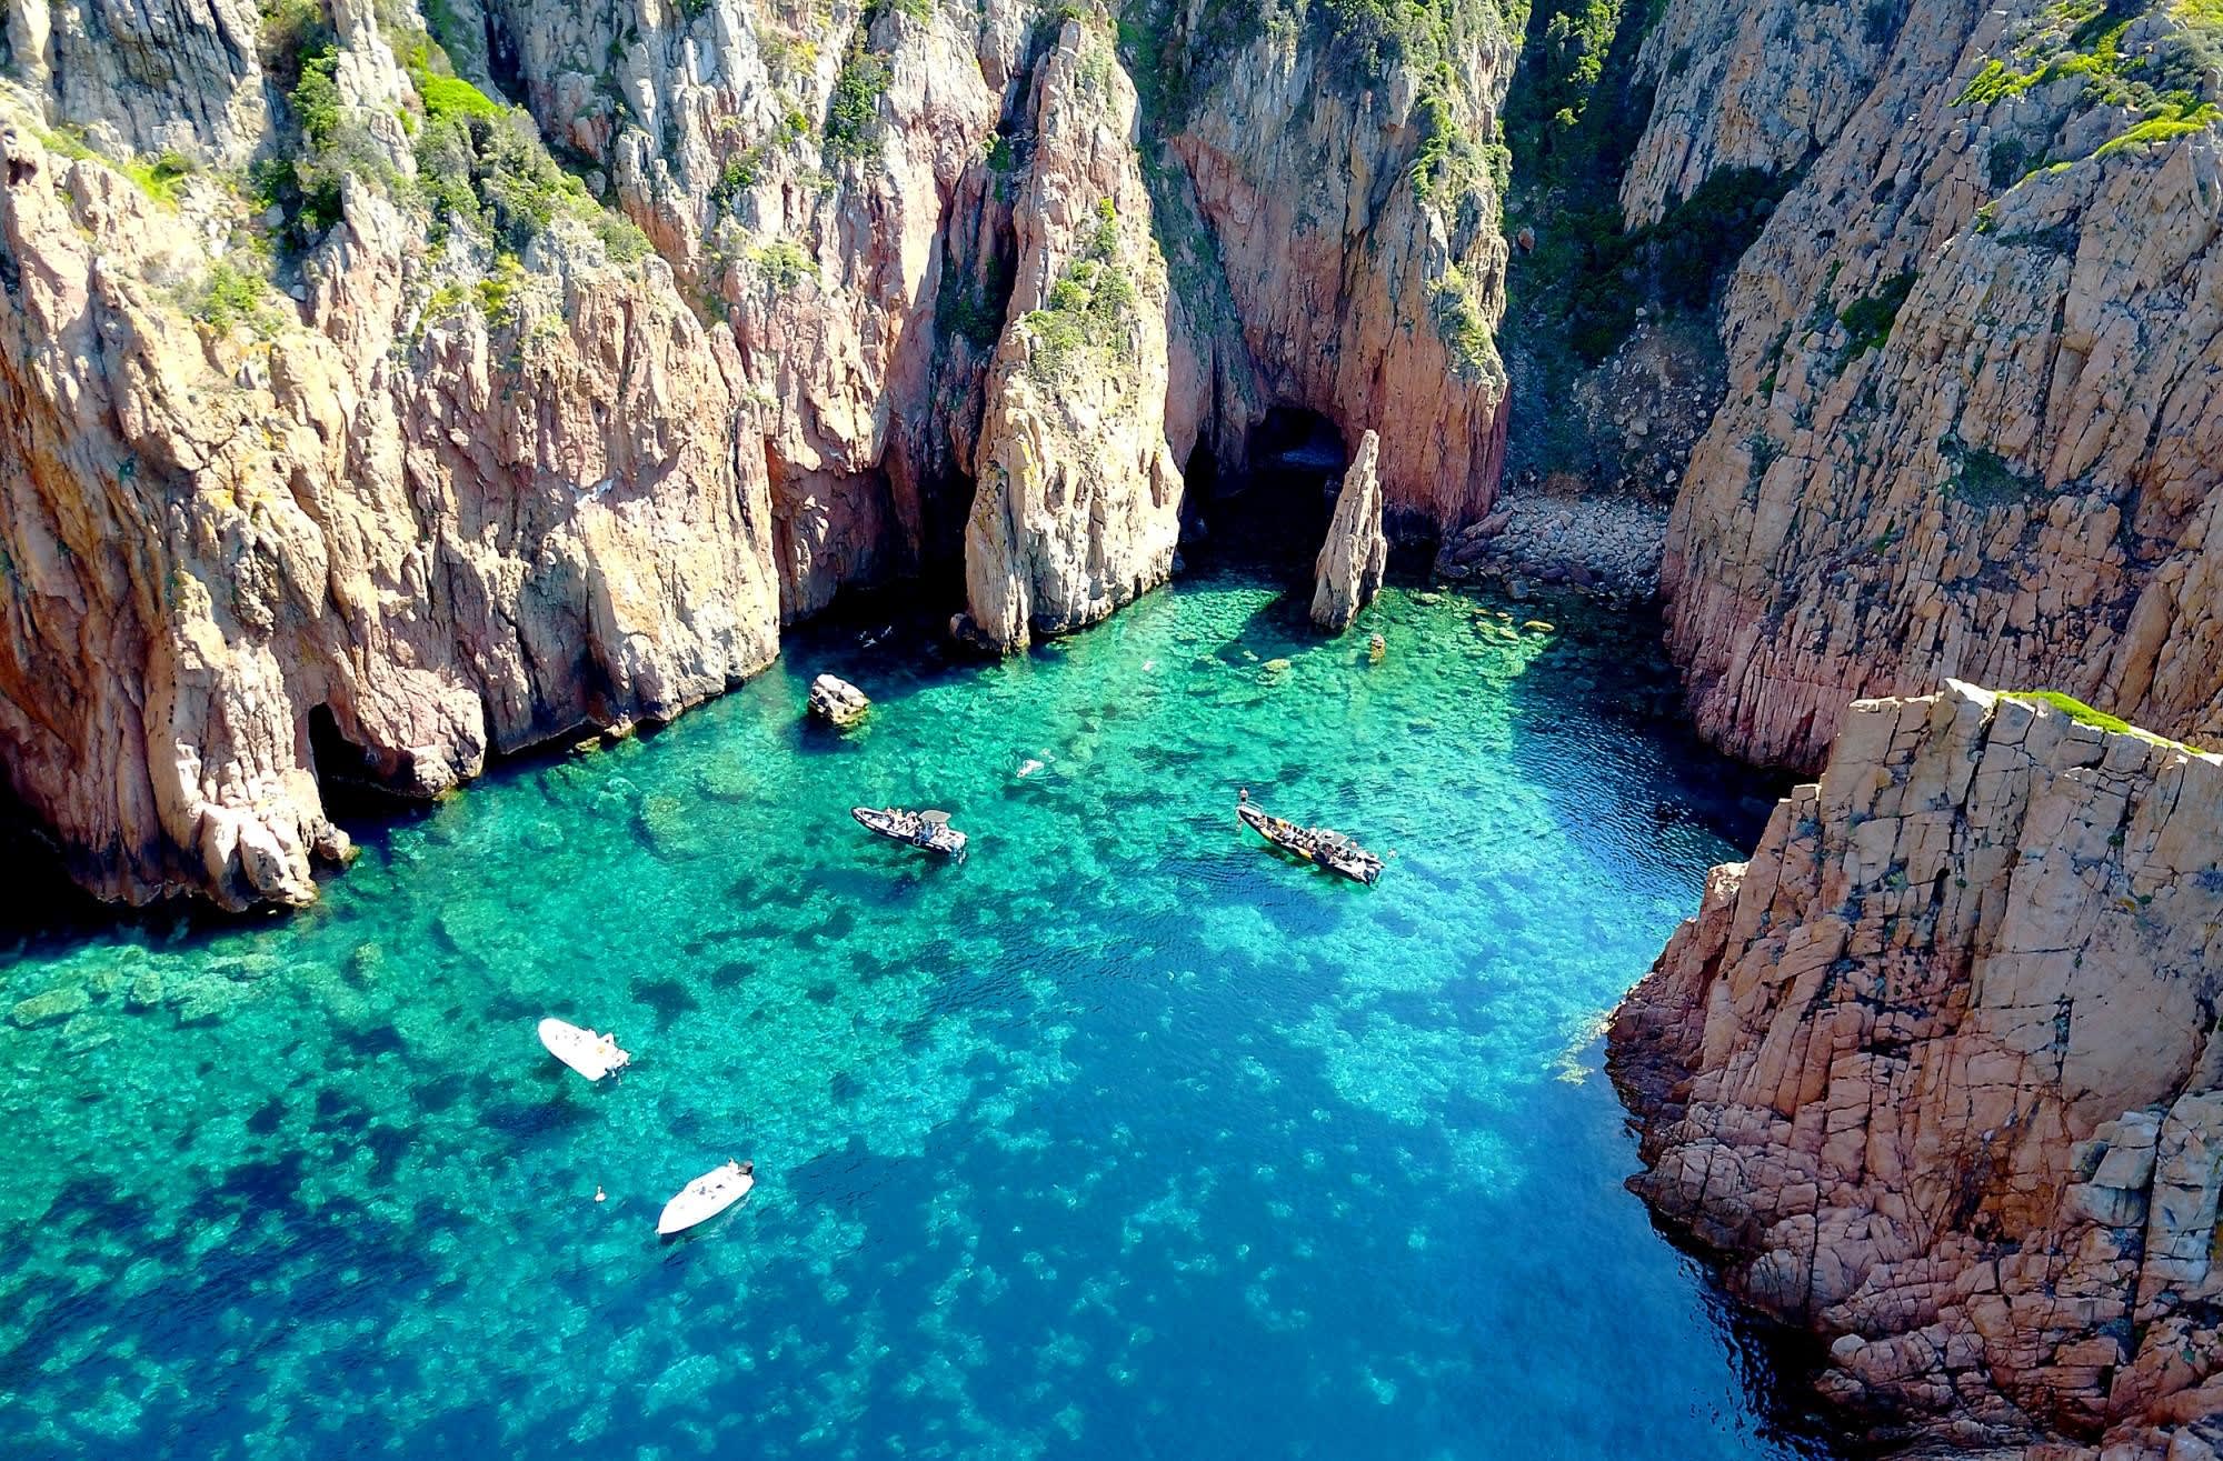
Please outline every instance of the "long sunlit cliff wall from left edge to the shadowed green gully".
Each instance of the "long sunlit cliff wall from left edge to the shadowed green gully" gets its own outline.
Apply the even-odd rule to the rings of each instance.
[[[13,4],[9,793],[102,895],[305,901],[322,784],[674,715],[847,584],[1109,613],[1274,406],[1463,526],[1509,58],[1478,2]]]

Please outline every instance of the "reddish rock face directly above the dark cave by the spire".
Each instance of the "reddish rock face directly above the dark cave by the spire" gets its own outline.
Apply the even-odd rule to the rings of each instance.
[[[1449,47],[1454,84],[1429,93],[1447,120],[1432,122],[1427,78],[1392,67],[1349,84],[1347,60],[1269,27],[1172,135],[1256,362],[1258,415],[1287,404],[1345,440],[1387,433],[1389,531],[1414,537],[1487,515],[1505,464],[1496,184],[1429,184],[1418,158],[1429,127],[1494,135],[1514,42],[1476,22]]]

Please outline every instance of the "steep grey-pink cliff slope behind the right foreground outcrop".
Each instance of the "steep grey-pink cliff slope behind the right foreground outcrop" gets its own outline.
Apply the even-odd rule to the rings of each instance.
[[[1805,169],[1729,289],[1729,395],[1663,564],[1725,748],[1814,766],[1850,699],[1943,675],[2223,737],[2223,151],[2110,100],[2196,107],[2216,73],[2192,20],[2136,9],[2099,40],[2030,0],[1872,29],[1687,0],[1647,44],[1632,220],[1732,164]]]

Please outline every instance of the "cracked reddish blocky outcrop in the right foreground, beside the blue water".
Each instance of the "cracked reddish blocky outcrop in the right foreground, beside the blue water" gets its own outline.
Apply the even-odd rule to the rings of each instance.
[[[1958,682],[1854,704],[1614,1015],[1632,1186],[1878,1434],[2212,1454],[2219,859],[2223,757]]]

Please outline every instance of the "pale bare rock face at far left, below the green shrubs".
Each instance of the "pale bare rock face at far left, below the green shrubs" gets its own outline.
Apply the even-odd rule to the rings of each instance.
[[[318,770],[433,795],[771,659],[736,362],[660,262],[558,231],[505,318],[427,320],[416,224],[349,187],[309,304],[216,335],[162,204],[0,147],[0,737],[96,893],[309,901]],[[311,715],[358,764],[316,766]]]

